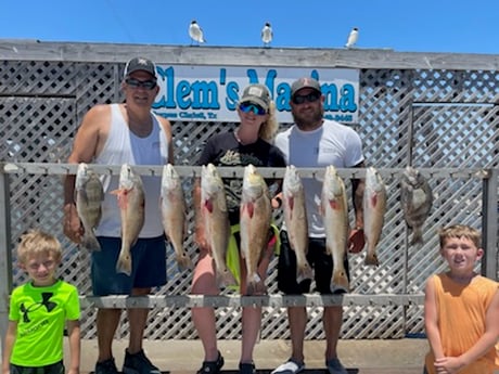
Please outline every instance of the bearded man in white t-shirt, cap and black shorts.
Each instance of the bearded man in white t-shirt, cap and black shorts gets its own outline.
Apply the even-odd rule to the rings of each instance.
[[[276,137],[276,145],[284,153],[287,165],[299,168],[318,168],[334,165],[336,168],[363,167],[362,145],[359,136],[351,128],[323,118],[324,95],[320,83],[312,78],[300,78],[291,87],[291,112],[295,121],[290,129]],[[325,253],[325,230],[319,212],[322,182],[303,180],[308,220],[307,260],[315,269],[316,288],[321,294],[331,294],[332,256]],[[356,225],[349,235],[350,252],[360,252],[364,245],[362,194],[363,181],[353,180]],[[281,231],[281,250],[278,265],[278,287],[287,295],[310,292],[311,280],[299,284],[296,281],[296,256],[291,249],[286,228]],[[348,275],[348,261],[345,256]],[[294,374],[305,370],[303,344],[307,325],[305,307],[287,309],[291,325],[292,353],[289,361],[272,374]],[[330,374],[347,374],[337,358],[336,345],[342,327],[343,308],[324,307],[322,322],[325,334],[325,366]]]

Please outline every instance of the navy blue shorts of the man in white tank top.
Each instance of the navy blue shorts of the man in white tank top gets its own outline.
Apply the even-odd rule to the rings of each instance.
[[[92,252],[94,296],[130,295],[132,288],[152,288],[166,284],[165,236],[139,238],[131,247],[131,274],[117,273],[116,261],[121,238],[99,236],[102,250]]]

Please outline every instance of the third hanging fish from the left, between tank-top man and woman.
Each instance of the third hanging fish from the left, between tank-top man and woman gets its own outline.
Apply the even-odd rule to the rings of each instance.
[[[163,228],[168,241],[174,246],[179,269],[192,269],[192,261],[183,249],[187,220],[182,180],[171,164],[163,166],[161,210]]]

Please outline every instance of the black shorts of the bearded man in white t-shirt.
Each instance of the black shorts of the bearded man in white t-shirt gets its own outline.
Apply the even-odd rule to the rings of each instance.
[[[316,292],[332,294],[331,278],[333,276],[333,256],[325,253],[325,237],[309,237],[307,260],[314,269]],[[345,253],[343,263],[346,276],[350,279],[348,257]],[[291,249],[287,232],[281,231],[281,252],[278,262],[278,288],[286,295],[302,295],[310,292],[311,281],[296,282],[296,255]]]

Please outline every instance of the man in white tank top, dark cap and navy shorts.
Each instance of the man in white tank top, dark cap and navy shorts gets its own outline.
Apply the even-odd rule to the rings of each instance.
[[[148,59],[136,57],[125,67],[121,89],[125,103],[95,105],[85,115],[76,134],[68,163],[101,165],[164,165],[174,163],[171,126],[151,112],[159,91],[156,67]],[[74,201],[75,176],[64,183],[64,233],[80,243],[84,229]],[[145,192],[145,220],[137,243],[131,247],[130,275],[117,273],[120,249],[120,215],[116,196],[110,191],[118,186],[118,176],[101,176],[104,186],[102,219],[95,229],[101,246],[92,256],[92,291],[95,296],[148,295],[152,287],[166,284],[166,246],[162,227],[159,199],[161,178],[142,177]],[[151,203],[150,203],[151,202]],[[126,374],[159,374],[145,357],[142,337],[149,309],[128,309],[130,339],[125,353]],[[120,309],[99,309],[97,333],[99,357],[95,374],[117,374],[113,357],[113,339],[120,320]]]

